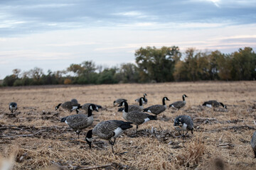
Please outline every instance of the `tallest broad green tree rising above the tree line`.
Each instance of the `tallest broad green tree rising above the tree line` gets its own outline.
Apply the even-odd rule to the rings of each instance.
[[[174,80],[174,65],[180,60],[178,47],[141,47],[135,52],[141,81],[164,82]]]

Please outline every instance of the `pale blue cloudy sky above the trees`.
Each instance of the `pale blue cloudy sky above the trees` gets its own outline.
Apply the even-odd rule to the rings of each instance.
[[[1,0],[0,79],[39,67],[135,60],[146,46],[181,52],[256,47],[255,0]]]

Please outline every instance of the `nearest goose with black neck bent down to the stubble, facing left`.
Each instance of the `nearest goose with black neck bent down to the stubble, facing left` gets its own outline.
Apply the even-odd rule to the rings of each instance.
[[[89,130],[85,137],[86,142],[88,143],[90,149],[92,148],[92,135],[97,135],[102,140],[108,140],[112,147],[112,153],[114,154],[114,142],[116,137],[122,134],[124,130],[132,128],[132,123],[124,122],[122,120],[107,120],[101,123],[98,123],[95,128]],[[111,139],[114,138],[114,141]]]

